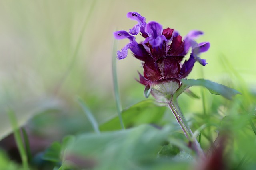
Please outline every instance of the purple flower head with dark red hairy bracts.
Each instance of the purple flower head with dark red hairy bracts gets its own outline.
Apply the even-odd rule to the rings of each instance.
[[[146,90],[157,99],[170,100],[171,96],[181,85],[181,79],[188,76],[198,61],[205,66],[206,60],[199,57],[200,53],[206,52],[209,42],[197,43],[195,41],[202,31],[193,30],[184,37],[178,31],[166,28],[155,21],[146,23],[146,18],[138,12],[129,12],[127,17],[138,21],[129,32],[121,30],[114,32],[114,37],[118,40],[129,39],[130,43],[124,46],[121,51],[117,51],[117,58],[124,59],[128,54],[128,49],[137,59],[143,61],[143,76],[139,73],[141,84],[146,86]],[[145,40],[138,43],[135,35],[141,34]],[[182,60],[192,48],[190,57],[182,64]]]

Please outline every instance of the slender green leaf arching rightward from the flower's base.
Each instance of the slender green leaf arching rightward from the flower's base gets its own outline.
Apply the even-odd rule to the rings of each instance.
[[[232,99],[232,97],[236,94],[240,94],[235,89],[229,88],[227,86],[224,86],[222,84],[218,84],[215,82],[211,82],[210,80],[205,79],[182,79],[182,85],[180,88],[176,91],[176,97],[180,95],[184,90],[191,86],[203,86],[207,88],[212,94],[222,95],[224,98],[227,98],[229,100]]]

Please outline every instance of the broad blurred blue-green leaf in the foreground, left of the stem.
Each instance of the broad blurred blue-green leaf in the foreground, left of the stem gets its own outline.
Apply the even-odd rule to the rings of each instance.
[[[84,162],[96,162],[95,169],[130,170],[134,165],[148,164],[156,158],[159,145],[167,139],[169,131],[169,127],[159,130],[140,125],[120,131],[82,134],[76,137],[67,154],[80,155]]]

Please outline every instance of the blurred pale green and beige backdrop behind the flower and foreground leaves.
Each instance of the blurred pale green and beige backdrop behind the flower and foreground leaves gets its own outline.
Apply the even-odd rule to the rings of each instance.
[[[91,131],[76,96],[99,123],[116,115],[112,33],[136,24],[126,18],[130,11],[182,36],[193,29],[204,31],[198,42],[211,43],[201,55],[208,64],[196,64],[188,78],[234,87],[242,83],[255,92],[255,9],[252,0],[0,0],[0,131],[7,135],[10,130],[6,108],[16,111],[21,124],[29,119],[30,129],[52,138]],[[127,42],[119,41],[118,49]],[[134,79],[137,70],[142,71],[141,63],[130,53],[117,61],[124,108],[144,100],[144,87]],[[194,107],[200,101],[181,98],[185,112],[202,109]],[[52,107],[50,113],[44,111]],[[34,114],[39,117],[31,120]]]

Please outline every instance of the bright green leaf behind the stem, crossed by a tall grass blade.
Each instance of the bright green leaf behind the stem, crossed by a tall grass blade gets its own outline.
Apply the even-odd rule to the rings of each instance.
[[[125,127],[146,123],[159,123],[166,107],[160,107],[154,100],[144,100],[122,111]],[[100,126],[101,131],[121,129],[118,116]]]

